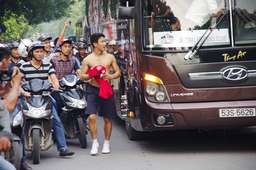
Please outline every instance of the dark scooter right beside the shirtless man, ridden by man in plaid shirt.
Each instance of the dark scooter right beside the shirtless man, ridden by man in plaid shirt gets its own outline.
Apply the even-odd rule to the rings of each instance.
[[[84,115],[87,106],[86,93],[77,86],[85,84],[76,75],[67,75],[59,80],[60,96],[64,108],[59,115],[66,139],[79,138],[81,148],[87,147],[86,135],[89,128],[86,124],[88,116]]]

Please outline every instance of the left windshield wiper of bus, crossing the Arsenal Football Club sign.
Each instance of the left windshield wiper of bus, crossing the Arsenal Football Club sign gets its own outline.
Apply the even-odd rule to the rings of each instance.
[[[221,16],[222,15],[222,16]],[[227,9],[223,9],[220,11],[220,13],[218,14],[218,16],[216,17],[216,19],[214,20],[214,22],[212,22],[212,24],[207,28],[207,30],[204,32],[204,34],[200,37],[200,39],[195,43],[195,45],[189,50],[189,52],[185,55],[184,59],[193,59],[195,57],[195,54],[198,52],[198,49],[203,45],[203,43],[207,40],[207,38],[209,37],[209,35],[212,33],[212,31],[214,29],[211,29],[211,31],[209,32],[209,34],[207,34],[207,36],[205,37],[205,39],[199,44],[199,42],[204,38],[204,35],[207,33],[207,31],[212,28],[212,25],[215,24],[217,22],[217,20],[219,19],[219,17],[221,16],[221,18],[218,20],[218,22],[216,23],[216,26],[218,26],[218,24],[221,22],[222,18],[225,17],[227,15]],[[216,27],[215,26],[215,27]],[[199,44],[199,45],[198,45]],[[196,46],[198,45],[198,47],[196,48]]]

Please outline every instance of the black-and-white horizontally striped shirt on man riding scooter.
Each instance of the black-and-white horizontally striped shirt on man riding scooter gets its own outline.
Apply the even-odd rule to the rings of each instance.
[[[20,66],[20,74],[22,77],[22,82],[28,82],[32,79],[41,79],[45,82],[48,82],[48,75],[56,74],[53,66],[51,63],[43,63],[37,69],[35,68],[31,62],[25,62],[23,65]]]

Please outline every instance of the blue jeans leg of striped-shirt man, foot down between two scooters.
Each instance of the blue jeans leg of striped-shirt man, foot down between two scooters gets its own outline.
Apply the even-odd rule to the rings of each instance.
[[[53,116],[52,129],[55,134],[57,149],[58,151],[61,151],[67,148],[66,139],[65,139],[63,127],[61,125],[61,119],[58,117],[58,114],[57,114],[56,101],[51,95],[49,96],[52,98],[52,106],[53,106],[52,107],[52,116]]]

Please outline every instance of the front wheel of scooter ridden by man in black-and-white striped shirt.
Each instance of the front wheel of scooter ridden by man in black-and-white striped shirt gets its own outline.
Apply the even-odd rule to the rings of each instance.
[[[33,129],[33,164],[40,163],[40,129]]]

